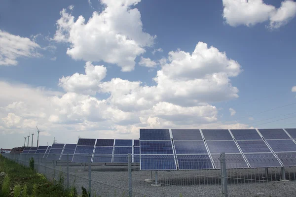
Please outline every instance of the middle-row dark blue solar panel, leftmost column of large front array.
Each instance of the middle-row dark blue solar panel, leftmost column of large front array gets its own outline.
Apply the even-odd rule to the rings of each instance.
[[[173,154],[171,141],[141,141],[141,154]]]

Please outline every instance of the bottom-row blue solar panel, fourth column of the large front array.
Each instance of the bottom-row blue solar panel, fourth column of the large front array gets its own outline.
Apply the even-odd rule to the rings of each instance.
[[[272,153],[244,154],[251,168],[282,166]]]

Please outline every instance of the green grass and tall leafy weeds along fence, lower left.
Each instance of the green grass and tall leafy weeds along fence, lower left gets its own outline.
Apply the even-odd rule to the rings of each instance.
[[[54,184],[32,166],[34,169],[34,159],[25,167],[0,155],[0,197],[78,197],[74,187],[63,188],[63,174]]]

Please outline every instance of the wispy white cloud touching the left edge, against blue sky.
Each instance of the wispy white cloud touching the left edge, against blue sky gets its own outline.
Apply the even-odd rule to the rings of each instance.
[[[28,37],[13,35],[0,30],[0,66],[15,66],[18,58],[42,56],[40,46]]]

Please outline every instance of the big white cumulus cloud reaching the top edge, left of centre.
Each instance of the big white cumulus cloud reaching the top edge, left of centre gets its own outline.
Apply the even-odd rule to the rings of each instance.
[[[75,60],[104,61],[120,66],[122,71],[131,71],[136,57],[154,43],[154,37],[143,32],[139,10],[131,8],[138,2],[101,0],[105,9],[101,13],[93,12],[87,22],[83,16],[74,20],[63,9],[53,39],[70,43],[67,54]]]

